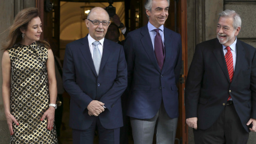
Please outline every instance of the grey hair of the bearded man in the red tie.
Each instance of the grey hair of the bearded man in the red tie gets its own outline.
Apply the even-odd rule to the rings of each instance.
[[[233,18],[233,28],[234,29],[237,29],[238,27],[241,27],[242,20],[240,18],[240,15],[238,13],[236,13],[234,10],[222,11],[221,13],[219,13],[218,20],[220,19],[220,17],[231,17],[231,18]]]

